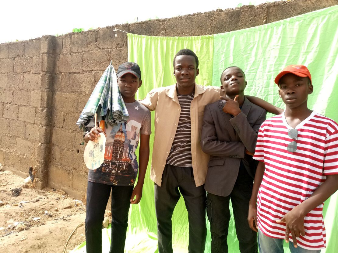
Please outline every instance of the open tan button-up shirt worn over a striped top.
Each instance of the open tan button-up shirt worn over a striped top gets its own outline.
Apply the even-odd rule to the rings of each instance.
[[[190,107],[191,156],[194,179],[197,186],[204,184],[209,155],[200,146],[204,107],[224,95],[219,87],[195,84],[195,95]],[[172,142],[174,141],[180,115],[176,84],[151,90],[144,100],[139,101],[150,111],[155,111],[155,136],[152,151],[150,178],[159,186]]]

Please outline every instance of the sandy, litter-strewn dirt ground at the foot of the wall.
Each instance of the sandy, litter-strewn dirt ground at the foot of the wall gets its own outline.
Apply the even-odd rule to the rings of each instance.
[[[31,187],[32,183],[26,183],[24,178],[0,171],[1,252],[63,253],[70,234],[79,224],[65,252],[85,241],[86,207],[62,190]],[[14,197],[12,189],[16,188],[22,190]],[[16,226],[9,228],[10,224]]]

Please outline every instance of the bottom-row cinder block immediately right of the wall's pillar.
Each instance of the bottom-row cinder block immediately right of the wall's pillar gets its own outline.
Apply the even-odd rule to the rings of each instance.
[[[48,183],[58,189],[72,187],[73,171],[64,166],[51,165],[48,169],[48,178]]]

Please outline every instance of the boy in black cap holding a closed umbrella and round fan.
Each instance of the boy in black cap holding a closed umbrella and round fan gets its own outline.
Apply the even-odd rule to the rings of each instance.
[[[142,85],[139,65],[135,62],[121,64],[117,78],[129,119],[114,126],[107,125],[104,162],[99,168],[89,170],[88,173],[85,221],[87,253],[102,252],[102,221],[110,194],[112,194],[110,253],[124,252],[130,203],[138,204],[141,200],[149,160],[150,112],[135,100],[135,94]],[[94,127],[84,135],[84,140],[95,141],[99,133],[103,133],[103,130]],[[138,164],[135,151],[140,139]],[[134,187],[138,170],[138,182]]]

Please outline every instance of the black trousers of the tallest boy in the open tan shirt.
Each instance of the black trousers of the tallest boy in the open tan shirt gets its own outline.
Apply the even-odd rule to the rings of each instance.
[[[180,193],[188,211],[189,253],[203,253],[207,236],[204,185],[196,187],[192,167],[169,164],[164,168],[161,187],[155,184],[159,253],[173,253],[171,217]]]

